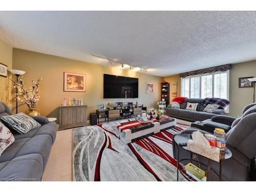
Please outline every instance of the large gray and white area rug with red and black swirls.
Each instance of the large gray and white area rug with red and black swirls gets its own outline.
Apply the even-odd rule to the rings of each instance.
[[[73,130],[73,181],[177,180],[172,138],[189,127],[190,122],[177,119],[175,127],[124,144],[115,135],[115,127],[125,121],[127,119]],[[179,181],[185,181],[181,174],[179,176]]]

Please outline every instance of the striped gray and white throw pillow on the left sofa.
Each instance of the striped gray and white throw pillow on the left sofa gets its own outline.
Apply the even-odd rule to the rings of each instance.
[[[14,129],[20,134],[25,134],[37,126],[40,126],[30,116],[24,113],[18,113],[16,115],[4,116],[1,118],[11,129]]]

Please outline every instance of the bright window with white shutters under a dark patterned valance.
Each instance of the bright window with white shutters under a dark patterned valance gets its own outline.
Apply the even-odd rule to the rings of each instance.
[[[229,99],[229,70],[181,78],[181,96]],[[225,109],[228,113],[228,107]]]

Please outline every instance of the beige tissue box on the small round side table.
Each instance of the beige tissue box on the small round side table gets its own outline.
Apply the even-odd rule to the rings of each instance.
[[[218,147],[211,146],[211,148],[207,148],[203,145],[195,144],[193,140],[189,139],[187,141],[187,150],[220,162],[220,148]]]

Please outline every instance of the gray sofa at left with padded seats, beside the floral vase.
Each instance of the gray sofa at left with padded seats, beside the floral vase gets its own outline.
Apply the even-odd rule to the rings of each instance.
[[[11,115],[0,102],[0,117]],[[15,141],[0,156],[0,181],[40,181],[56,138],[57,124],[48,122],[24,135],[10,130]]]

